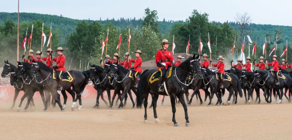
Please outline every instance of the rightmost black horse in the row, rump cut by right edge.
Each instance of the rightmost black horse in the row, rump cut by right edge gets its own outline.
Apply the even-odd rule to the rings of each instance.
[[[274,88],[279,96],[279,101],[277,102],[282,103],[282,96],[283,96],[283,88],[288,88],[289,91],[292,89],[292,78],[287,74],[282,74],[284,77],[279,78],[279,85],[275,84],[275,78],[273,73],[268,70],[256,70],[256,84],[260,84],[264,86],[264,96],[267,103],[272,103],[272,89]],[[268,92],[268,93],[267,93]],[[280,94],[281,92],[281,94]],[[268,96],[267,96],[268,94]],[[270,100],[269,100],[270,96]]]

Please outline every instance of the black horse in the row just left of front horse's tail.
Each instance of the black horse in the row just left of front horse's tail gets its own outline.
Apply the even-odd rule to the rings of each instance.
[[[127,93],[129,94],[129,97],[132,101],[133,107],[135,108],[135,102],[132,97],[131,90],[136,93],[136,89],[134,88],[135,81],[133,80],[133,75],[130,75],[131,71],[127,70],[120,64],[112,63],[110,64],[110,77],[113,78],[112,85],[114,87],[114,95],[112,97],[112,102],[110,105],[110,108],[112,108],[114,97],[116,94],[118,94],[120,98],[120,105],[118,106],[118,109],[123,108],[123,100],[126,97]],[[120,91],[123,90],[122,96],[120,96]],[[125,101],[126,102],[126,101]]]

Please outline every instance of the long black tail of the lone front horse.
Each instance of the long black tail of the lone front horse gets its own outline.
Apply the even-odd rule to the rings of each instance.
[[[143,71],[143,73],[141,74],[141,77],[140,77],[140,81],[139,81],[139,84],[138,84],[138,91],[137,91],[137,108],[138,109],[141,109],[142,107],[142,103],[144,101],[144,96],[143,96],[143,93],[144,93],[144,80],[145,80],[145,73],[147,72],[148,70],[145,70]]]

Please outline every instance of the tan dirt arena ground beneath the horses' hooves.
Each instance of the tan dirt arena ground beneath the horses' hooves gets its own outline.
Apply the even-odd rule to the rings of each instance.
[[[263,97],[262,97],[263,98]],[[274,100],[274,98],[273,98]],[[224,100],[226,102],[226,97]],[[17,104],[19,101],[17,102]],[[148,101],[150,103],[150,100]],[[190,127],[185,126],[183,107],[177,105],[174,127],[169,98],[164,106],[158,101],[155,123],[153,109],[148,109],[148,123],[144,123],[144,109],[108,109],[101,102],[100,109],[92,109],[93,100],[83,101],[80,111],[49,109],[43,112],[42,103],[35,109],[17,112],[9,109],[10,102],[0,103],[0,140],[291,140],[292,104],[245,105],[243,98],[237,106],[202,106],[194,100],[188,106]],[[22,108],[23,109],[23,108]]]

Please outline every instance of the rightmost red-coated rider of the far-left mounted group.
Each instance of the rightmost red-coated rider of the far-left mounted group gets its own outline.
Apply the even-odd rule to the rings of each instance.
[[[58,54],[57,58],[54,58],[53,61],[55,61],[57,63],[57,65],[53,66],[53,69],[57,69],[57,71],[59,72],[65,72],[65,56],[63,55],[63,48],[62,47],[58,47],[57,50],[55,50]],[[62,79],[59,79],[59,90],[63,90],[62,87]]]

